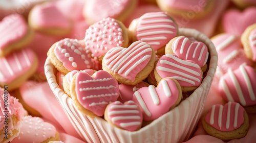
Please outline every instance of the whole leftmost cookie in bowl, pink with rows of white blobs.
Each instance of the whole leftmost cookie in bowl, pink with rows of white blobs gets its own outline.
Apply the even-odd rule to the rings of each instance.
[[[65,38],[54,43],[47,55],[51,63],[63,74],[93,67],[91,56],[84,51],[84,46],[77,39]]]

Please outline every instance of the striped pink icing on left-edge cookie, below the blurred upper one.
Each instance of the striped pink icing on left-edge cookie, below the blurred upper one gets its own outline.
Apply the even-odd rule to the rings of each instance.
[[[10,83],[25,74],[35,61],[34,53],[26,48],[13,52],[7,57],[0,57],[0,82]]]

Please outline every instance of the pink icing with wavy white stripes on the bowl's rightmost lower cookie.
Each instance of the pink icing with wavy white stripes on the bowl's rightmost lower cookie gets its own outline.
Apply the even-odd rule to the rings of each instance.
[[[179,59],[174,54],[162,56],[158,60],[155,70],[162,79],[171,77],[176,79],[183,87],[199,86],[203,79],[198,64],[194,61]]]

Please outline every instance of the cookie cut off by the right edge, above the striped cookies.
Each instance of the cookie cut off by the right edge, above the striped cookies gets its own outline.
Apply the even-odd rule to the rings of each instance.
[[[246,28],[241,36],[247,58],[256,62],[256,23]]]

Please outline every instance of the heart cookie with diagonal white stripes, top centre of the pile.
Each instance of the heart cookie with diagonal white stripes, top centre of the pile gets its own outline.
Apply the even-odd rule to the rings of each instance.
[[[136,85],[153,70],[155,52],[146,42],[136,41],[129,47],[114,47],[102,60],[102,69],[122,84]]]

